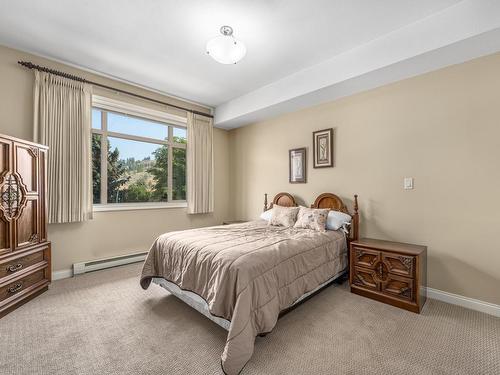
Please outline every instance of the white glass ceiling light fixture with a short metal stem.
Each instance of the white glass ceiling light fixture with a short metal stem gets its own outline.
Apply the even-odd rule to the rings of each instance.
[[[207,54],[221,64],[236,64],[245,57],[247,48],[233,36],[231,26],[222,26],[220,33],[222,35],[208,41]]]

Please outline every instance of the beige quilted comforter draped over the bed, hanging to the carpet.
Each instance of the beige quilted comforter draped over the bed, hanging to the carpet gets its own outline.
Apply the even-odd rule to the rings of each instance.
[[[340,231],[259,220],[161,235],[147,256],[141,286],[163,277],[203,297],[212,315],[230,320],[221,358],[224,372],[233,375],[252,356],[255,336],[270,332],[281,310],[346,264]]]

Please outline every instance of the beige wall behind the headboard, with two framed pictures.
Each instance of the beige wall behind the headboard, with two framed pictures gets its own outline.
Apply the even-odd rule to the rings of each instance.
[[[331,127],[335,167],[313,169],[312,132]],[[308,182],[289,184],[304,146]],[[230,149],[234,217],[265,192],[357,193],[363,236],[427,245],[430,287],[500,303],[500,54],[232,130]]]

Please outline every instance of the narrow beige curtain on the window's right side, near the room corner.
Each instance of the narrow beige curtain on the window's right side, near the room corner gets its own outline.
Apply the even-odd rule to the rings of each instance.
[[[188,113],[187,122],[188,213],[214,211],[213,121]]]

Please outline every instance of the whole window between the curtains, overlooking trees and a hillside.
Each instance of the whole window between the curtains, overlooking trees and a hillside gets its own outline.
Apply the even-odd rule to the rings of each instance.
[[[137,112],[134,108],[129,113],[117,112],[109,109],[113,108],[110,100],[106,103],[99,108],[94,100],[92,108],[94,204],[129,207],[184,202],[187,137],[179,118],[173,123],[157,121],[158,111],[151,111],[154,116],[147,118],[148,110],[142,108],[139,117],[130,114]]]

